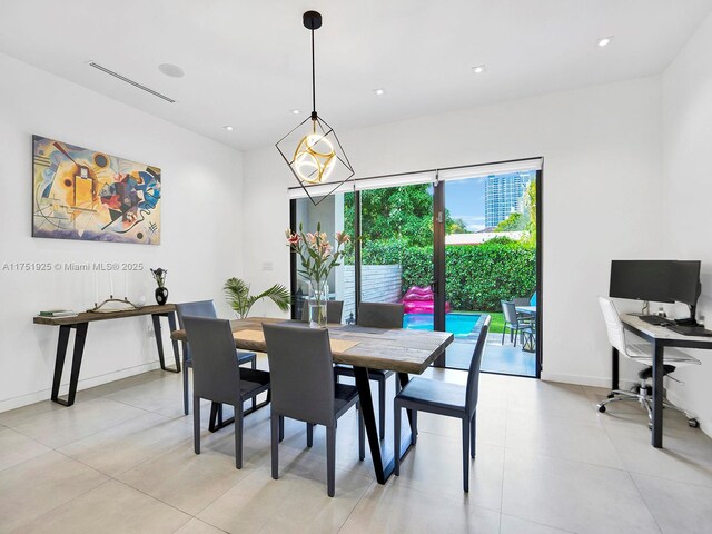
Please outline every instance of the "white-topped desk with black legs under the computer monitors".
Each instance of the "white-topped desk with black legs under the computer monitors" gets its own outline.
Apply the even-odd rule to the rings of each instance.
[[[651,344],[653,358],[653,432],[651,444],[663,446],[663,355],[665,347],[712,349],[712,337],[683,336],[664,326],[653,326],[635,315],[621,315],[623,327]],[[612,388],[619,388],[619,352],[612,353]]]

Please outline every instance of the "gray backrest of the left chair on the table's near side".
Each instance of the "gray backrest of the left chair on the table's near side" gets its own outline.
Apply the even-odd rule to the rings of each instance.
[[[192,354],[194,395],[236,405],[240,398],[240,367],[227,319],[185,316]]]

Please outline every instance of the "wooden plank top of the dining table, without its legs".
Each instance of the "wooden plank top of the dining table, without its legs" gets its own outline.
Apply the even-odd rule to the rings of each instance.
[[[261,332],[263,323],[285,323],[276,318],[248,318],[231,320],[235,346],[244,350],[267,352],[263,339],[256,339],[254,330]],[[304,324],[304,323],[303,323]],[[305,328],[307,328],[306,324]],[[453,343],[448,332],[408,330],[404,328],[368,328],[356,325],[328,325],[329,338],[356,343],[346,349],[332,348],[334,362],[369,369],[422,374],[445,347]],[[240,336],[240,332],[245,332]],[[187,340],[185,330],[175,330],[171,338]],[[349,344],[345,344],[349,345]]]

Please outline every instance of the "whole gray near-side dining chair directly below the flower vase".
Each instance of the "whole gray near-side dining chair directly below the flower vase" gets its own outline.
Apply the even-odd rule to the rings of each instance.
[[[326,486],[334,496],[337,419],[358,404],[356,386],[336,384],[329,333],[303,325],[264,324],[271,375],[271,477],[279,478],[279,442],[284,418],[307,424],[307,446],[314,443],[314,425],[326,427]],[[366,457],[364,418],[358,411],[358,459]]]

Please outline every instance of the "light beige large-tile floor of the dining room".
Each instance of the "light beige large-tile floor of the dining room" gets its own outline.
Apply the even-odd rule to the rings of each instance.
[[[712,441],[679,414],[665,414],[657,451],[636,406],[595,411],[603,389],[498,375],[483,375],[481,386],[469,494],[461,490],[458,422],[426,414],[400,476],[385,486],[368,453],[358,462],[355,413],[340,419],[329,498],[323,429],[307,449],[304,425],[287,421],[280,478],[271,479],[269,408],[246,418],[237,471],[233,432],[210,434],[204,404],[196,456],[178,375],[151,372],[81,392],[71,408],[44,402],[6,412],[0,532],[712,532]]]

